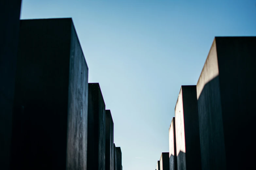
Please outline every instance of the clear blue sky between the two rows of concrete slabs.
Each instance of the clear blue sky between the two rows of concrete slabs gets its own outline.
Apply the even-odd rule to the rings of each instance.
[[[114,121],[124,170],[155,169],[181,85],[214,36],[256,35],[256,0],[23,0],[21,19],[72,17]]]

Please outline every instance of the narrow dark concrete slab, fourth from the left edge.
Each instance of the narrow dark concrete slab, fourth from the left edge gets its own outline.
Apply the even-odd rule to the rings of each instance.
[[[114,123],[111,111],[106,110],[106,170],[114,170]]]

